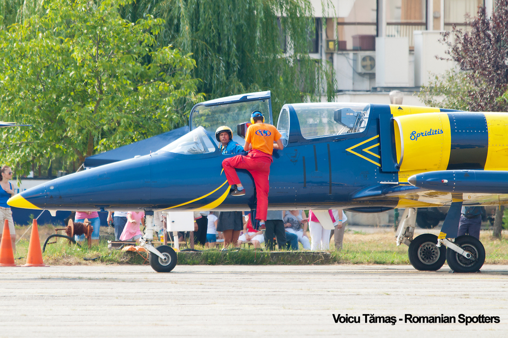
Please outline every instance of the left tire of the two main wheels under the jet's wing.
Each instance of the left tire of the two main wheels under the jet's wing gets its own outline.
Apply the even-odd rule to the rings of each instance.
[[[437,271],[446,260],[446,247],[437,247],[437,236],[424,233],[411,241],[407,256],[411,265],[419,271]]]

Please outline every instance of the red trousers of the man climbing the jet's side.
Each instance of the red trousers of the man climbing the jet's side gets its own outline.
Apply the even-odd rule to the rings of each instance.
[[[272,164],[272,156],[259,150],[251,150],[246,156],[236,155],[223,161],[224,173],[229,185],[241,183],[235,168],[246,169],[254,178],[256,196],[258,198],[256,219],[266,220],[268,191],[270,190],[268,183],[270,164]]]

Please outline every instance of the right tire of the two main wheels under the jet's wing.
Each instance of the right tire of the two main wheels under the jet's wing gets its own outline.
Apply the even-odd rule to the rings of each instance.
[[[468,259],[452,249],[447,249],[446,260],[448,266],[458,273],[477,272],[485,263],[485,248],[479,240],[473,236],[464,235],[455,239],[455,244],[471,254]]]

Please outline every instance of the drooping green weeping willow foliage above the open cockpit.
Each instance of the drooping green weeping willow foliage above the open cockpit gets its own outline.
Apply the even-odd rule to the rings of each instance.
[[[308,0],[140,0],[121,13],[163,19],[157,41],[193,53],[207,99],[271,90],[277,113],[324,90],[333,99],[333,70],[308,54],[316,28]]]

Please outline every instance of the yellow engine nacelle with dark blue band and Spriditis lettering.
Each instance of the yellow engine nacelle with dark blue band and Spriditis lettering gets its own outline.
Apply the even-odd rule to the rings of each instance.
[[[508,114],[443,112],[393,118],[402,172],[507,170]]]

